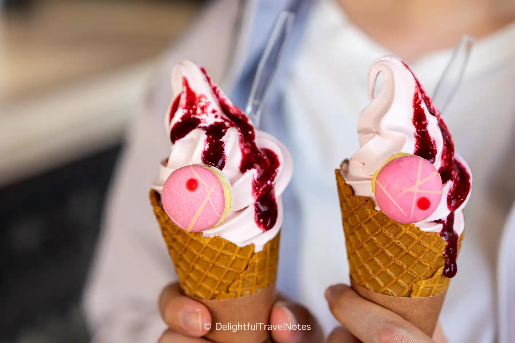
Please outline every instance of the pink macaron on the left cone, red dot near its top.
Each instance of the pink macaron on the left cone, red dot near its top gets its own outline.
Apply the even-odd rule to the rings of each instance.
[[[168,176],[161,193],[163,209],[186,231],[220,225],[231,210],[231,186],[219,169],[189,165]]]

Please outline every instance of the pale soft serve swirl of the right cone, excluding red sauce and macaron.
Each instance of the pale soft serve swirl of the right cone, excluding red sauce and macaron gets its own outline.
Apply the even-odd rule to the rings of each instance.
[[[383,86],[374,98],[377,77],[384,74]],[[384,161],[399,152],[414,154],[416,128],[413,124],[413,97],[418,87],[415,77],[404,63],[396,57],[385,56],[377,59],[370,68],[368,93],[371,103],[363,110],[358,120],[359,145],[361,148],[352,156],[348,165],[342,166],[342,174],[347,184],[352,187],[354,195],[368,196],[379,210],[372,193],[372,176]],[[437,155],[434,166],[438,170],[441,165],[443,137],[438,127],[438,120],[421,102],[428,124],[427,132],[434,139]],[[465,161],[455,154],[455,158],[467,169]],[[452,179],[443,185],[443,194],[436,211],[424,221],[414,223],[424,231],[439,232],[442,224],[435,220],[447,219],[450,210],[447,206],[447,195],[452,186]],[[471,179],[472,182],[472,179]],[[467,199],[455,211],[454,231],[459,235],[464,230],[465,222],[462,209]]]

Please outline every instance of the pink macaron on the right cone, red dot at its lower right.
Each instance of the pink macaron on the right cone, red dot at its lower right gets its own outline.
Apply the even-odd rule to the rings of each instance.
[[[372,178],[377,206],[399,223],[417,223],[433,214],[442,198],[442,179],[425,158],[390,156]]]

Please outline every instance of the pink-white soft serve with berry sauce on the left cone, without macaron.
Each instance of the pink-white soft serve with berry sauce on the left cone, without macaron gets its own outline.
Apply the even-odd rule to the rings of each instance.
[[[183,61],[174,67],[171,82],[174,100],[165,118],[171,153],[152,188],[161,193],[168,177],[185,166],[204,165],[222,173],[230,184],[230,211],[220,225],[203,230],[203,236],[262,250],[282,225],[281,194],[293,172],[288,150],[255,130],[203,68]],[[186,185],[191,186],[197,187]]]

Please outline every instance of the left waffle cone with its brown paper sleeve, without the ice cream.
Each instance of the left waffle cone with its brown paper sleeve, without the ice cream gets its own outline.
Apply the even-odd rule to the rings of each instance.
[[[175,225],[164,211],[160,195],[150,191],[150,202],[161,227],[179,284],[185,295],[204,303],[212,314],[207,337],[217,343],[261,343],[268,331],[217,330],[216,323],[268,323],[275,297],[280,234],[254,252],[220,238],[204,238]],[[262,326],[263,328],[263,326]]]

